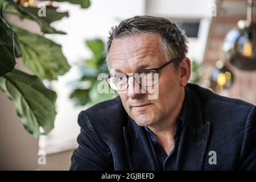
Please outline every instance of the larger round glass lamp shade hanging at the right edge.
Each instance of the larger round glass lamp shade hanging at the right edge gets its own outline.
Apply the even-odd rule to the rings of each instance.
[[[245,71],[256,70],[256,24],[246,25],[240,20],[238,27],[229,31],[223,44],[225,60]]]

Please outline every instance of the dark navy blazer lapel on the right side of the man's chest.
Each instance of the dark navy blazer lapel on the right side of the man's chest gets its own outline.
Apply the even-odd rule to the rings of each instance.
[[[188,111],[177,151],[177,170],[201,170],[207,149],[210,122],[203,122],[200,101],[187,91]]]

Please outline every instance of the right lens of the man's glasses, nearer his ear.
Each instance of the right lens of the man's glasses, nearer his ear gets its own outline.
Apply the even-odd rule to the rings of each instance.
[[[135,81],[141,86],[152,86],[158,83],[159,74],[154,69],[145,70],[135,74]]]

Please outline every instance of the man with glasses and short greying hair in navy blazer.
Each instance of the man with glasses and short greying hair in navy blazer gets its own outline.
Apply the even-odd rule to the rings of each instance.
[[[256,107],[188,84],[187,52],[183,32],[164,18],[112,28],[106,80],[119,96],[80,113],[71,170],[256,168]]]

